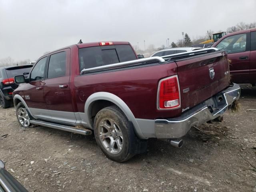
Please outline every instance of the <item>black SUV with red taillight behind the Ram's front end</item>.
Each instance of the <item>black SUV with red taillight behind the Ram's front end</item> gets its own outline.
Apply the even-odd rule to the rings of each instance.
[[[8,108],[13,103],[12,92],[18,87],[14,83],[14,76],[28,76],[33,65],[18,65],[9,67],[0,67],[0,105],[2,108]]]

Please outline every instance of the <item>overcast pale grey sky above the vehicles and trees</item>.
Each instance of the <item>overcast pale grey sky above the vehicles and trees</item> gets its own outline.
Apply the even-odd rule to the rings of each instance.
[[[256,22],[256,0],[0,0],[0,59],[37,60],[70,44],[124,40],[144,49]]]

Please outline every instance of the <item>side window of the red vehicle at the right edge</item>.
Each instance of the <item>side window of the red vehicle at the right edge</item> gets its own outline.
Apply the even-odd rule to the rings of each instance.
[[[216,48],[227,50],[228,53],[244,52],[246,50],[246,33],[226,37]]]

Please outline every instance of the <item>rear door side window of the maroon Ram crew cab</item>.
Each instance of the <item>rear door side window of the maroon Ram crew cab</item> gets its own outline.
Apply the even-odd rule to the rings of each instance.
[[[48,66],[48,78],[65,76],[66,74],[66,52],[59,52],[50,56]]]

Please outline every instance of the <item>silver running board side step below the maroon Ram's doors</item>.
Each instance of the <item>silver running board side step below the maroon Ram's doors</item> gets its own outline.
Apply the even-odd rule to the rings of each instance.
[[[42,121],[42,120],[30,120],[31,124],[35,125],[41,125],[41,126],[46,126],[54,129],[59,129],[63,131],[68,131],[72,133],[77,133],[77,134],[82,134],[82,135],[91,135],[92,130],[86,129],[86,128],[77,128],[73,126],[68,126],[68,125],[62,125],[62,124],[57,124],[57,123],[52,123],[52,122],[47,122],[47,121]]]

